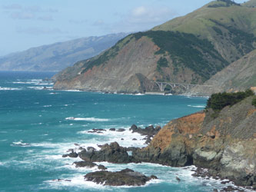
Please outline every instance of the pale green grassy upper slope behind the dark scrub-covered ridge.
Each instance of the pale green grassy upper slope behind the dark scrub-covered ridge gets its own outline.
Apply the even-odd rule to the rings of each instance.
[[[253,49],[256,8],[231,1],[210,2],[184,17],[175,18],[153,30],[181,31],[207,38],[229,63]]]

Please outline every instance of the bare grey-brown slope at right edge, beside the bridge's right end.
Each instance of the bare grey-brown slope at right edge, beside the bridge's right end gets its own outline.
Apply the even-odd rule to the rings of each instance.
[[[204,84],[213,86],[196,87],[188,91],[188,94],[210,95],[221,91],[234,92],[256,87],[256,50],[214,74]]]

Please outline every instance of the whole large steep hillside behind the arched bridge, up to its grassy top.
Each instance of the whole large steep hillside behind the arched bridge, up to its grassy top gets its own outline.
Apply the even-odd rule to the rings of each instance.
[[[256,8],[228,0],[211,2],[79,61],[55,76],[55,88],[125,92],[123,85],[129,86],[128,79],[138,73],[149,81],[202,84],[253,51],[255,35]]]

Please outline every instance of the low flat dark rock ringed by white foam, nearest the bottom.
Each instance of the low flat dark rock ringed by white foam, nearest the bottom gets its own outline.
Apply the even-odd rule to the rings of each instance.
[[[144,174],[131,169],[125,169],[118,172],[106,170],[96,171],[85,175],[85,180],[93,181],[96,184],[110,186],[141,186],[145,185],[148,180],[157,177],[146,177]]]

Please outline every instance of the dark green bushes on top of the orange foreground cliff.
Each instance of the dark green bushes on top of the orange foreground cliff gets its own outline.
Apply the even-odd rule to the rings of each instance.
[[[244,98],[248,98],[249,96],[254,95],[254,92],[251,89],[247,91],[240,91],[237,93],[218,93],[212,94],[211,98],[208,99],[206,109],[212,108],[215,112],[221,111],[224,107],[228,105],[234,105],[239,101],[244,100]]]

